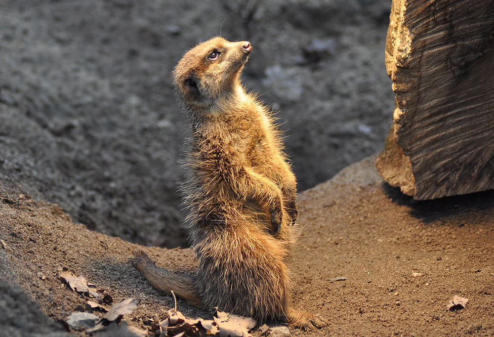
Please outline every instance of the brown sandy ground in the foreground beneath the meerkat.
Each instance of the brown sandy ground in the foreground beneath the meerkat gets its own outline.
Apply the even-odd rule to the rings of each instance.
[[[374,160],[299,195],[301,235],[290,261],[293,302],[330,325],[291,334],[492,336],[494,192],[413,202],[382,182]],[[149,320],[163,319],[174,302],[132,267],[130,253],[140,248],[164,267],[194,270],[189,249],[139,247],[96,233],[72,223],[57,205],[4,201],[0,215],[5,336],[65,336],[62,323],[72,312],[102,315],[54,277],[58,266],[106,289],[114,302],[141,298],[124,321],[146,331]],[[331,281],[339,276],[346,280]],[[468,298],[463,309],[447,310],[453,295]],[[211,318],[181,299],[177,306],[189,317]],[[253,335],[260,333],[254,329]]]

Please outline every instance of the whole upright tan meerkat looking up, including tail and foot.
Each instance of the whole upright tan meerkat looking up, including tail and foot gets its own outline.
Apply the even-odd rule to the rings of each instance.
[[[213,38],[189,50],[173,72],[190,126],[181,190],[196,274],[157,267],[143,252],[134,262],[155,288],[200,308],[324,327],[290,304],[296,181],[270,111],[240,83],[251,51],[249,42]]]

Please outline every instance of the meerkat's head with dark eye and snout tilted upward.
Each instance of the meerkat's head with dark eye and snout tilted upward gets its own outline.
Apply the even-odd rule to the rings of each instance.
[[[186,106],[208,106],[235,94],[252,46],[213,38],[189,50],[173,72],[176,93]]]

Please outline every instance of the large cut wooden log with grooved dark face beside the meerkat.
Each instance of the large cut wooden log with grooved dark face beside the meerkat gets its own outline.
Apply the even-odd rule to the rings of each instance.
[[[494,188],[494,0],[393,0],[393,127],[376,162],[425,200]]]

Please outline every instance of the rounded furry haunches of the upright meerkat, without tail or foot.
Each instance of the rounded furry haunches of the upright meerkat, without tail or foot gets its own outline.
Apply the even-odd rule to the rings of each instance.
[[[263,320],[283,317],[290,282],[280,242],[246,224],[214,231],[196,252],[196,285],[206,306]]]

